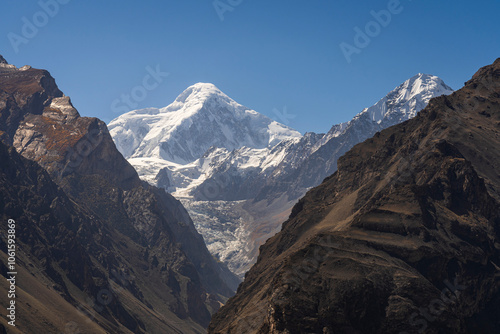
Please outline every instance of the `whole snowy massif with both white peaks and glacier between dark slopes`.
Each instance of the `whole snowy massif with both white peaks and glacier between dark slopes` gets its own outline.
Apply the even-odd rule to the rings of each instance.
[[[212,254],[243,277],[258,247],[342,154],[451,92],[418,74],[327,134],[301,136],[200,83],[166,108],[132,111],[109,127],[141,178],[179,198]]]

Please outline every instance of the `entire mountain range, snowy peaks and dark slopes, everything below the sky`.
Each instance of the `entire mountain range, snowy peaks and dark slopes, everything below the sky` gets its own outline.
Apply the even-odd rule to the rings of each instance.
[[[212,84],[108,130],[0,56],[0,333],[495,333],[499,147],[500,59],[301,135]]]

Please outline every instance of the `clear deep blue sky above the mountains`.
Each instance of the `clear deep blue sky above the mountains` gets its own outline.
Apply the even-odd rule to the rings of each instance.
[[[326,132],[417,73],[458,89],[500,57],[499,1],[397,2],[5,0],[0,54],[49,70],[80,114],[106,122],[211,82],[302,133]]]

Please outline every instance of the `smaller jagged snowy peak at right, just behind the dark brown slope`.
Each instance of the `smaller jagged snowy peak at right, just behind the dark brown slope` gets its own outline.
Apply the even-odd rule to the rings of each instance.
[[[394,117],[403,121],[414,117],[425,108],[431,98],[451,93],[453,89],[439,77],[419,73],[396,87],[375,105],[363,110],[361,114],[367,114],[377,123]]]

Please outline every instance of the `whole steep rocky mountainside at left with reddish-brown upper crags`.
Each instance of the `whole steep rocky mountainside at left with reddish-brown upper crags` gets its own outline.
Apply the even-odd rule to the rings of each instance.
[[[0,216],[22,226],[19,266],[35,277],[19,281],[29,296],[19,302],[46,311],[20,330],[204,332],[239,280],[182,204],[139,179],[103,122],[80,117],[47,71],[9,67],[0,70],[0,138]]]

